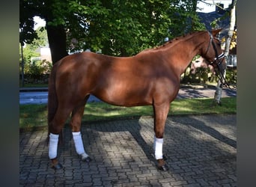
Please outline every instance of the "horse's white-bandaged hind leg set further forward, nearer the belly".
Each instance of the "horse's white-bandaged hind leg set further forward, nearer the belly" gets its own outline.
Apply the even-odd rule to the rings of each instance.
[[[70,127],[72,129],[73,141],[76,148],[76,153],[82,157],[82,161],[91,162],[91,158],[85,153],[84,144],[82,142],[81,134],[81,122],[84,114],[85,104],[89,98],[89,95],[73,109],[70,121]]]

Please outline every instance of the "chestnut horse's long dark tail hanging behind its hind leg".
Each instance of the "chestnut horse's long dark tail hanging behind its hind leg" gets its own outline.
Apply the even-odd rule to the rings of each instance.
[[[55,113],[58,108],[58,97],[55,88],[55,81],[56,81],[56,72],[57,72],[58,64],[54,64],[52,67],[52,71],[49,75],[49,83],[48,83],[48,138],[49,141],[49,130],[50,124],[55,116]]]

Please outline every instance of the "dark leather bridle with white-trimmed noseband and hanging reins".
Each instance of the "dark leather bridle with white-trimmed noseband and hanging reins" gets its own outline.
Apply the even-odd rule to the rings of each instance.
[[[230,88],[230,85],[228,84],[227,80],[225,79],[225,76],[223,75],[223,68],[222,68],[222,61],[224,60],[225,58],[225,55],[224,55],[224,52],[222,52],[220,55],[218,55],[218,52],[217,52],[217,48],[216,48],[216,45],[215,43],[213,42],[213,34],[211,34],[209,31],[208,31],[208,34],[210,35],[210,42],[208,44],[208,47],[207,47],[207,52],[209,51],[210,49],[210,44],[213,45],[213,49],[214,49],[214,52],[215,52],[215,58],[213,59],[213,61],[210,62],[210,65],[213,66],[213,64],[216,64],[217,65],[217,68],[219,70],[219,74],[221,76],[218,75],[218,73],[216,73],[216,76],[219,78],[220,82],[221,82],[221,85],[220,87],[222,88],[222,86],[226,86],[228,88]],[[207,54],[207,52],[205,52],[205,55]],[[214,66],[213,66],[214,67]],[[215,68],[214,68],[215,69]],[[224,80],[224,82],[222,81]],[[230,88],[231,89],[231,88]]]

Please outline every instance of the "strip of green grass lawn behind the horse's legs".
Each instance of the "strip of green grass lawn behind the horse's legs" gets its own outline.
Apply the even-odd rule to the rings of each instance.
[[[237,98],[222,98],[222,105],[213,105],[213,99],[175,99],[169,116],[182,114],[236,114]],[[85,106],[83,121],[116,120],[152,116],[152,106],[120,107],[104,102],[89,102]],[[68,122],[68,121],[67,121]],[[19,105],[19,128],[47,127],[47,105]]]

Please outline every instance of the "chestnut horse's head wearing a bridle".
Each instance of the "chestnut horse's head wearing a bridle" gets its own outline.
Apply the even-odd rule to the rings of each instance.
[[[207,47],[204,46],[205,50],[202,52],[202,56],[206,59],[207,63],[212,65],[214,69],[223,72],[226,69],[225,55],[222,51],[221,41],[216,38],[216,35],[222,29],[213,30],[207,32]]]

